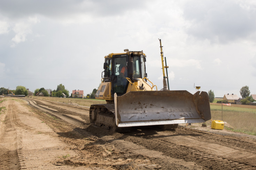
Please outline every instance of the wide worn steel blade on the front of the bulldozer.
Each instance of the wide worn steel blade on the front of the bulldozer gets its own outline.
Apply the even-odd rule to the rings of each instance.
[[[206,92],[136,91],[114,96],[118,127],[199,123],[211,119]]]

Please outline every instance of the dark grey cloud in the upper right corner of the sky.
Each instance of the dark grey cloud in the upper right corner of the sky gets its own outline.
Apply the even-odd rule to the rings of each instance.
[[[245,39],[256,32],[256,5],[248,8],[245,1],[188,1],[184,18],[186,32],[198,39],[227,43]]]

